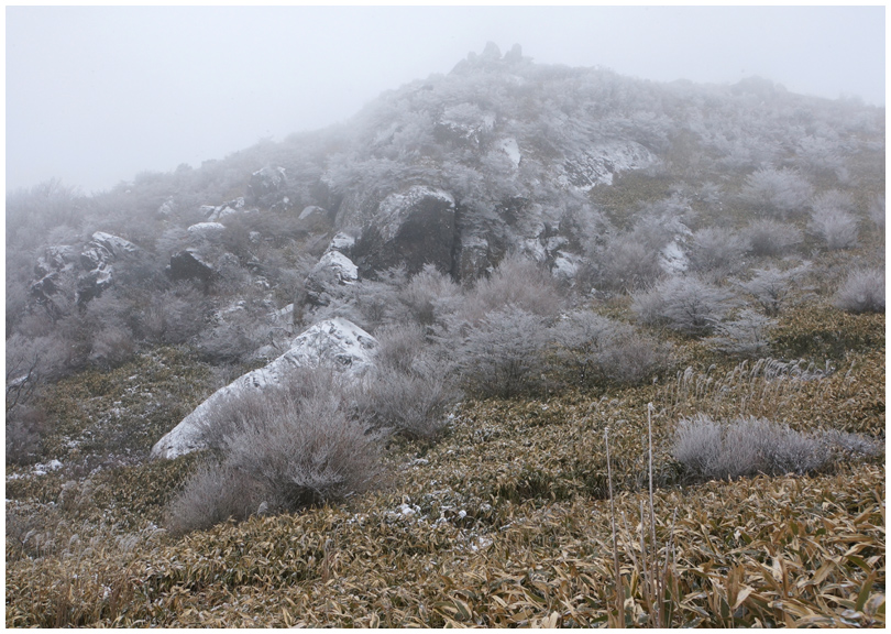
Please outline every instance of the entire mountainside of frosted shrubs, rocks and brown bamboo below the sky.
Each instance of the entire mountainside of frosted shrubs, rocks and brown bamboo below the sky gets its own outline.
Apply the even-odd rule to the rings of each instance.
[[[883,626],[884,249],[883,109],[492,44],[8,193],[7,625]]]

